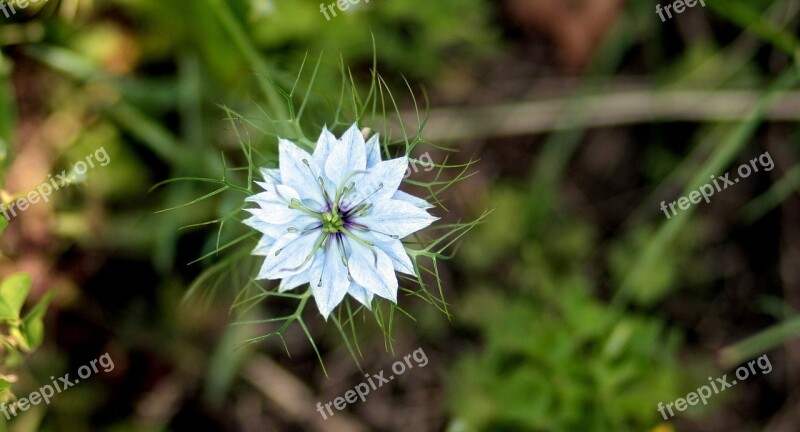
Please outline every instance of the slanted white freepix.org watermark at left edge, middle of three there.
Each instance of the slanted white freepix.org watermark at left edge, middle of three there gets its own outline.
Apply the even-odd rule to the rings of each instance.
[[[106,166],[111,163],[111,158],[108,156],[108,152],[106,152],[104,147],[100,147],[95,150],[94,153],[89,153],[85,161],[80,160],[76,162],[69,173],[67,173],[67,170],[64,170],[61,171],[61,174],[56,174],[55,177],[53,177],[52,174],[48,174],[47,178],[50,181],[40,184],[39,187],[28,192],[24,197],[0,204],[0,213],[3,213],[3,216],[8,221],[11,221],[11,218],[17,217],[17,211],[24,212],[28,210],[31,204],[36,204],[40,201],[49,202],[50,195],[54,191],[68,186],[80,176],[85,175],[89,168],[95,167],[95,162],[100,166]]]

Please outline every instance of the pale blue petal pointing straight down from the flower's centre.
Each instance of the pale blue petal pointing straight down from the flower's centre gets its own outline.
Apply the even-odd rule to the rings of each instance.
[[[326,320],[333,309],[342,302],[350,287],[347,267],[342,261],[339,249],[333,244],[333,239],[334,237],[329,236],[326,240],[328,244],[325,246],[325,261],[322,266],[315,266],[310,271],[314,300],[317,302],[317,309]]]

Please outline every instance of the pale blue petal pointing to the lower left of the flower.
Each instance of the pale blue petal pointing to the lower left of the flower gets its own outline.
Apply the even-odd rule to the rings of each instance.
[[[264,265],[256,277],[261,279],[283,279],[307,271],[314,258],[307,260],[321,232],[305,235],[289,233],[272,245],[264,260]]]

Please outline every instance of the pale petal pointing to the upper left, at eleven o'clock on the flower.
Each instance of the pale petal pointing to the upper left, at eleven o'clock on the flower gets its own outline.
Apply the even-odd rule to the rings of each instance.
[[[314,158],[293,142],[285,139],[279,141],[278,152],[283,184],[294,188],[304,203],[305,200],[313,200],[319,204],[324,203],[325,198],[318,183],[322,172]]]

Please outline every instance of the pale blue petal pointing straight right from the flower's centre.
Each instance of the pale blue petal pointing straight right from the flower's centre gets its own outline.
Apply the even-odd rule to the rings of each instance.
[[[360,216],[354,220],[366,225],[370,230],[402,239],[425,228],[437,219],[424,209],[415,207],[409,202],[390,199],[375,203],[366,216]]]

